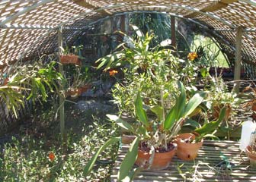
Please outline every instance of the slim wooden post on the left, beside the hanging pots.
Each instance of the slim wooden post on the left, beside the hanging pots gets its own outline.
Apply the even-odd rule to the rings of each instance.
[[[62,37],[62,27],[59,27],[58,30],[58,46],[59,46],[59,55],[62,53],[61,47],[63,47],[63,37]],[[60,56],[59,56],[60,62]],[[62,74],[63,66],[59,64],[59,73]],[[64,141],[64,133],[65,133],[65,110],[64,110],[64,102],[65,97],[62,94],[59,94],[59,124],[60,124],[60,134],[62,138],[62,142]]]

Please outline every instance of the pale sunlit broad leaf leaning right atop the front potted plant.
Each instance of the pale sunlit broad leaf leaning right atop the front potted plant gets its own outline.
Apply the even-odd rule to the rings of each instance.
[[[201,102],[203,102],[203,97],[200,96],[199,93],[196,93],[189,100],[189,102],[187,102],[183,117],[186,118],[188,115],[190,115],[197,108],[197,106],[200,105]]]

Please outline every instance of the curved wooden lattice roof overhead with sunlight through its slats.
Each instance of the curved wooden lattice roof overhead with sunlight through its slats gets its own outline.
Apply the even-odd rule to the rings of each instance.
[[[26,60],[39,52],[54,52],[56,30],[61,26],[65,36],[72,40],[104,17],[134,11],[159,11],[187,18],[216,36],[223,50],[233,53],[235,29],[242,26],[244,67],[255,72],[255,0],[2,0],[0,69],[5,71],[6,64]]]

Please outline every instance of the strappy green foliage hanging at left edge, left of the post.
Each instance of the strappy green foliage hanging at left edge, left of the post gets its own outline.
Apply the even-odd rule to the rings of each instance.
[[[56,62],[27,64],[17,67],[7,86],[1,86],[0,95],[17,118],[16,110],[24,106],[24,99],[46,102],[50,93],[59,94],[62,88],[59,83],[62,82],[62,75],[56,71]]]

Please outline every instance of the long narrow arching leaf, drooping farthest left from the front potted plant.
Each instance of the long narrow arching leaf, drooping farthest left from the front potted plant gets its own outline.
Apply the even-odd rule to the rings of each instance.
[[[104,145],[101,146],[97,152],[95,152],[95,154],[92,156],[92,158],[87,163],[87,165],[85,165],[84,175],[86,176],[87,174],[89,174],[91,172],[91,169],[93,168],[94,163],[96,162],[96,159],[98,158],[98,155],[100,155],[101,152],[104,151],[104,149],[106,149],[108,146],[112,145],[113,143],[117,143],[119,141],[120,141],[120,137],[115,137],[115,138],[108,140],[106,143],[104,143]]]

